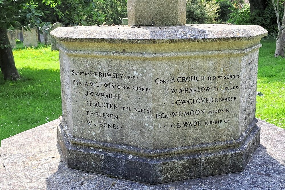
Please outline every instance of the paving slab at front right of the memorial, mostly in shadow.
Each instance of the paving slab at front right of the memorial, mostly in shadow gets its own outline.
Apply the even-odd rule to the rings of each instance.
[[[159,185],[145,185],[120,179],[114,189],[180,190],[180,189],[285,189],[285,130],[260,120],[260,145],[242,172],[188,179]],[[113,188],[111,188],[113,189]]]

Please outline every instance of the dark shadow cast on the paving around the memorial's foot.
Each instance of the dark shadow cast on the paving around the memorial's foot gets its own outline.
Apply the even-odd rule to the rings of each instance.
[[[66,167],[59,144],[58,171],[46,178],[46,187],[55,189],[284,189],[285,166],[260,144],[242,172],[148,185]],[[281,158],[282,159],[282,158]],[[282,162],[282,160],[281,160]]]

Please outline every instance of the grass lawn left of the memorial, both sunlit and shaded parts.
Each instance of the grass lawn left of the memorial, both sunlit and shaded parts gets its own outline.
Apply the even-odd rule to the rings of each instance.
[[[50,46],[13,50],[19,81],[3,81],[0,74],[0,140],[61,114],[61,91],[58,51]]]

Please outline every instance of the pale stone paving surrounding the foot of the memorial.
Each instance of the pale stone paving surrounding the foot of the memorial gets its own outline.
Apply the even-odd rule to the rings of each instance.
[[[56,124],[59,122],[54,120],[1,141],[1,190],[285,189],[285,130],[261,120],[258,122],[261,127],[260,145],[243,172],[159,185],[146,185],[66,167],[56,139]]]

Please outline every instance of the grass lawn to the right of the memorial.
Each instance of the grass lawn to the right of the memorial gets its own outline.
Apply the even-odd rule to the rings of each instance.
[[[259,50],[256,117],[285,128],[285,59],[274,58],[275,42],[261,41]]]

